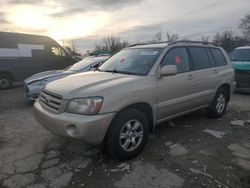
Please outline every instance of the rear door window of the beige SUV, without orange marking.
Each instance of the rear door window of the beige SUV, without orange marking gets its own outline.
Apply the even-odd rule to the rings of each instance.
[[[192,63],[194,70],[205,69],[210,67],[208,55],[204,48],[190,47],[190,55],[192,57]]]

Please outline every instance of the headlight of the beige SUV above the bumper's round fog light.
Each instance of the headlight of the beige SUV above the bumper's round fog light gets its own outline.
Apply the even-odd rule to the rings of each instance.
[[[102,106],[103,97],[71,99],[66,112],[74,114],[96,115]]]

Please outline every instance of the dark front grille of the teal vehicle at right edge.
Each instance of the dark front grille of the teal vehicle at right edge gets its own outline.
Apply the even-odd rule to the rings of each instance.
[[[250,71],[235,71],[237,87],[250,88]]]

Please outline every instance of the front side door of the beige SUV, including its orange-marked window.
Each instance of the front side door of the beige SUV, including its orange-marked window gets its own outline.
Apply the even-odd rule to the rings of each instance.
[[[161,62],[164,65],[176,65],[178,73],[158,79],[158,120],[192,109],[194,100],[187,49],[170,49]]]

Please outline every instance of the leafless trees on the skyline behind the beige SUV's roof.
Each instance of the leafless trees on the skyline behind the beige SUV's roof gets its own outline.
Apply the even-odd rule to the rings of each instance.
[[[218,32],[214,36],[201,36],[199,41],[210,42],[216,46],[223,47],[228,53],[239,46],[250,45],[250,13],[240,20],[239,23],[240,33],[236,34],[232,30],[226,30]],[[176,41],[179,40],[180,36],[177,33],[167,32],[156,32],[152,40],[148,42],[163,42],[163,41]],[[187,38],[185,40],[188,40]],[[99,44],[95,45],[95,50],[104,50],[117,52],[122,48],[129,46],[128,41],[121,40],[120,37],[110,35],[104,37]]]

